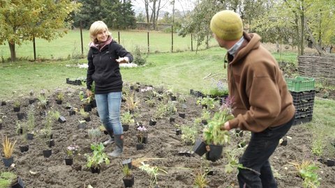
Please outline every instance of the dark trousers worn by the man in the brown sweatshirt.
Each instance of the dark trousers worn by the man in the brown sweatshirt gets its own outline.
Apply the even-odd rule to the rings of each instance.
[[[276,150],[279,140],[290,130],[292,120],[278,127],[269,127],[262,132],[251,133],[251,139],[239,163],[248,169],[239,169],[239,187],[276,188],[276,180],[271,171],[269,157]],[[249,170],[253,169],[253,171]],[[257,173],[256,173],[257,172]]]

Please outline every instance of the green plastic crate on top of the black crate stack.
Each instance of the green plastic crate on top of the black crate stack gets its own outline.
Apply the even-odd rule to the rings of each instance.
[[[295,77],[294,79],[285,78],[289,91],[301,92],[314,90],[315,80],[308,77]]]

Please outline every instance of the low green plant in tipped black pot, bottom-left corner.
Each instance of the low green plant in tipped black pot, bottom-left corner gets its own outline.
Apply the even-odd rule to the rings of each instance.
[[[12,172],[0,173],[0,187],[24,188],[24,182],[20,176]]]

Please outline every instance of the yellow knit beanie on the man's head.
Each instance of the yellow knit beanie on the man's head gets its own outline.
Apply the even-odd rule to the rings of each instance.
[[[232,10],[222,10],[211,18],[211,31],[223,40],[237,40],[243,35],[242,19]]]

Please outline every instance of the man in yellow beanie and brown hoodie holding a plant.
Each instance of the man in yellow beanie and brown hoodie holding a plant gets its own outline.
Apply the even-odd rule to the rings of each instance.
[[[251,131],[251,140],[239,159],[239,187],[277,187],[269,157],[290,130],[295,107],[283,74],[256,33],[245,33],[241,17],[231,10],[216,13],[211,31],[220,47],[228,50],[229,94],[234,119],[221,130]]]

